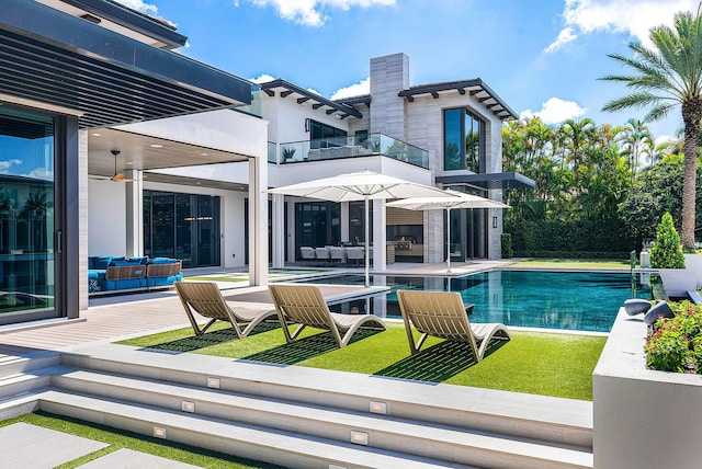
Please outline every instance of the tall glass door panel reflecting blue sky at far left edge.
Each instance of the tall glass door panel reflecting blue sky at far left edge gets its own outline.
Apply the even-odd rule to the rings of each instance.
[[[0,323],[55,316],[54,121],[0,108]]]

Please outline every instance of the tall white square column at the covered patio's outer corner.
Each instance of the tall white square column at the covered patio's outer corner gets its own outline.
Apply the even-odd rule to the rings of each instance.
[[[268,144],[249,159],[249,283],[268,285]]]

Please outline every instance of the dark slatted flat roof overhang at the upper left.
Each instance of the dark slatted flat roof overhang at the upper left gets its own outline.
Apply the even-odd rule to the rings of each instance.
[[[251,83],[35,1],[2,0],[0,100],[73,110],[81,128],[251,103]]]

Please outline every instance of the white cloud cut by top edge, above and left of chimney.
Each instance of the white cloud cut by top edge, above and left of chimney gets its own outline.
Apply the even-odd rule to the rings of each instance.
[[[134,0],[137,1],[137,0]],[[370,8],[374,5],[395,4],[395,0],[247,0],[256,7],[273,7],[278,14],[287,21],[305,26],[322,26],[329,19],[324,14],[327,8],[348,11],[354,7]],[[239,7],[240,0],[234,2]]]

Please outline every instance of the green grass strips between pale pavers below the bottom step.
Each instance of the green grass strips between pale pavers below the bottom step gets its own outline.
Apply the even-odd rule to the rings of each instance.
[[[12,425],[18,422],[25,422],[110,445],[103,449],[60,465],[57,469],[77,468],[122,448],[160,456],[166,459],[203,468],[272,469],[280,467],[42,411],[8,419],[0,422],[0,426]]]

